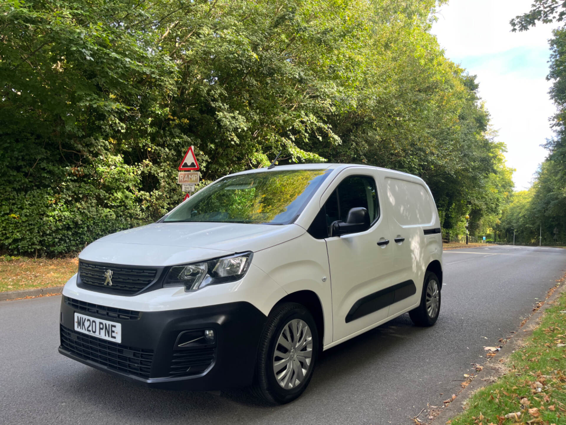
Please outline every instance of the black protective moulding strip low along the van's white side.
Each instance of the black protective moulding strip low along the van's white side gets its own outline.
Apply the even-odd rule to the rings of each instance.
[[[352,305],[348,315],[346,315],[346,323],[357,318],[370,315],[382,308],[388,307],[397,301],[409,298],[417,293],[417,287],[413,281],[405,281],[366,295]]]

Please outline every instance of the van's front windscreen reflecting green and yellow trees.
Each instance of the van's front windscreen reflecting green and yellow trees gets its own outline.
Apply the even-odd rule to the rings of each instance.
[[[293,223],[330,172],[300,169],[225,177],[188,198],[163,222]]]

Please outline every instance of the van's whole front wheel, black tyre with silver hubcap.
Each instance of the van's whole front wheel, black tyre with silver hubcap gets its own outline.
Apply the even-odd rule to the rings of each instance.
[[[252,390],[268,403],[295,400],[307,388],[319,350],[314,318],[301,304],[278,305],[267,318],[259,341]]]

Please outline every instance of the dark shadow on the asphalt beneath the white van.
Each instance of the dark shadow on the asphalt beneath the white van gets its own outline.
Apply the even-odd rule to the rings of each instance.
[[[426,329],[413,326],[408,315],[404,315],[324,351],[307,392],[284,406],[261,403],[247,389],[225,390],[220,396],[211,392],[149,389],[87,367],[81,368],[80,373],[67,374],[57,387],[64,397],[68,396],[67,400],[75,400],[83,409],[100,411],[103,406],[108,423],[186,423],[189,418],[191,424],[249,423],[290,409],[291,405],[308,406],[319,397],[338,398],[333,395],[336,381],[364,373],[368,364],[379,362],[384,356],[395,356],[407,339],[418,338],[422,332]]]

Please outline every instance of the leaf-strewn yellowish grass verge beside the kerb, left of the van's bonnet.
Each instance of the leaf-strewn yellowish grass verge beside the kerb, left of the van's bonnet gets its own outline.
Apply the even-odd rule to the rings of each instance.
[[[78,266],[77,258],[0,256],[0,292],[63,286]]]

